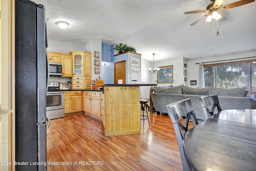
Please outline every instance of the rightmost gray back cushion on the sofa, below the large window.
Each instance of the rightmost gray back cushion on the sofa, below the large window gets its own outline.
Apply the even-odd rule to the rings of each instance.
[[[245,87],[238,88],[217,88],[208,87],[209,95],[217,94],[218,96],[228,96],[228,97],[244,97]]]

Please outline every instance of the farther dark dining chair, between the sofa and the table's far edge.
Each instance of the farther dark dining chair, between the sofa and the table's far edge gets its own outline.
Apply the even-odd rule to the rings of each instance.
[[[203,96],[203,97],[198,97],[199,101],[202,105],[203,111],[204,111],[204,115],[205,118],[207,119],[208,117],[211,117],[212,115],[214,115],[214,110],[217,107],[218,112],[222,111],[221,107],[220,107],[220,102],[218,99],[218,95],[214,94],[214,95],[207,95],[207,96]],[[212,106],[212,109],[210,110],[208,107]]]

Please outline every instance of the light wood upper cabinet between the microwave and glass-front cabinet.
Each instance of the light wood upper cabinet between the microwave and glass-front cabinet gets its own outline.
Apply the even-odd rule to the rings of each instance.
[[[63,55],[62,58],[62,77],[72,77],[73,76],[73,56]]]

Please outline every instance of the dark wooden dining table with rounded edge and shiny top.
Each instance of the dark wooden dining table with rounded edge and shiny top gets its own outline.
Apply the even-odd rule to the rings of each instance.
[[[256,109],[216,113],[186,133],[183,148],[191,170],[255,171]]]

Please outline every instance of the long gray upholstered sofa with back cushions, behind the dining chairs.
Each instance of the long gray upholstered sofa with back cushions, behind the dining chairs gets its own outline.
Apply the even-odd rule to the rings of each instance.
[[[197,119],[205,120],[204,111],[198,97],[204,95],[217,94],[222,110],[226,109],[256,109],[256,101],[252,98],[245,97],[248,91],[242,88],[191,88],[184,85],[169,87],[154,87],[154,93],[150,93],[155,111],[168,113],[166,105],[184,100],[191,99],[194,112]]]

